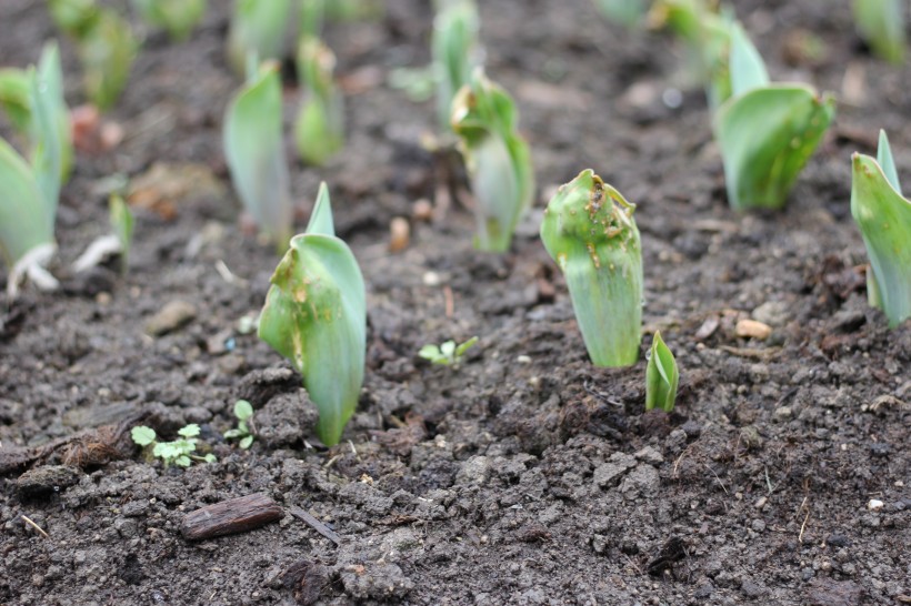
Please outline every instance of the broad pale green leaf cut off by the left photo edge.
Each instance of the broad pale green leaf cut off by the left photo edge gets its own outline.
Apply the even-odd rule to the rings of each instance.
[[[53,218],[31,168],[0,139],[0,253],[12,265],[29,251],[53,244]]]

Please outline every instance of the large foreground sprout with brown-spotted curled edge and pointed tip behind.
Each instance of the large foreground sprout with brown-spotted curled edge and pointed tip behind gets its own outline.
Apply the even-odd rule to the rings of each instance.
[[[358,261],[336,236],[326,183],[303,234],[272,274],[259,336],[303,375],[319,410],[317,435],[338,444],[358,407],[367,350],[367,302]]]

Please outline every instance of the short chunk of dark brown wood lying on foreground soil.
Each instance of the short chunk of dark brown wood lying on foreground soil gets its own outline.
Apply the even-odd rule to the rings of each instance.
[[[188,541],[246,533],[284,516],[284,511],[262,493],[208,505],[183,516],[180,533]]]

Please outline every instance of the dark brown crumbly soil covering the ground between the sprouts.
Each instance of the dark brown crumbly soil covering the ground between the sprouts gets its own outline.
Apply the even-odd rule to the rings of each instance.
[[[911,69],[868,54],[847,0],[734,2],[774,79],[850,99],[788,208],[748,215],[727,206],[703,95],[669,38],[605,24],[587,0],[483,2],[488,73],[520,104],[539,181],[501,256],[471,249],[460,205],[439,224],[412,221],[411,245],[387,250],[390,220],[437,183],[420,145],[432,103],[384,84],[388,70],[428,61],[430,3],[390,0],[380,21],[330,26],[349,141],[323,170],[296,165],[293,191],[302,226],[329,182],[370,323],[361,405],[330,451],[310,445],[299,377],[237,330],[278,260],[241,235],[228,193],[220,123],[238,81],[222,52],[228,2],[210,4],[192,41],[147,39],[110,114],[124,142],[78,159],[58,218],[64,290],[3,305],[0,603],[911,602],[911,323],[889,331],[868,307],[849,212],[849,155],[871,152],[879,128],[911,174]],[[801,31],[822,38],[822,59],[785,52]],[[3,65],[36,61],[53,36],[43,2],[0,2]],[[679,109],[661,101],[671,87],[684,89]],[[294,101],[289,83],[289,122]],[[103,181],[156,162],[199,163],[226,193],[178,196],[172,221],[138,211],[126,276],[68,275],[107,230]],[[643,414],[644,355],[627,370],[589,364],[537,238],[553,188],[589,166],[639,204],[645,330],[661,330],[681,370],[670,417]],[[172,301],[196,317],[146,336]],[[744,317],[772,336],[738,339]],[[700,334],[707,321],[718,327]],[[458,370],[417,356],[475,334]],[[220,437],[240,395],[260,432],[247,452]],[[118,441],[138,418],[166,436],[199,423],[218,462],[146,462]],[[251,493],[283,519],[181,537],[187,513]]]

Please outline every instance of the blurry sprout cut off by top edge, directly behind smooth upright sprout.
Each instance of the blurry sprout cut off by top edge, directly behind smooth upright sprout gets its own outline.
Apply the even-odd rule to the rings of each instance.
[[[228,62],[247,73],[247,58],[281,59],[291,0],[234,0],[228,31]]]

